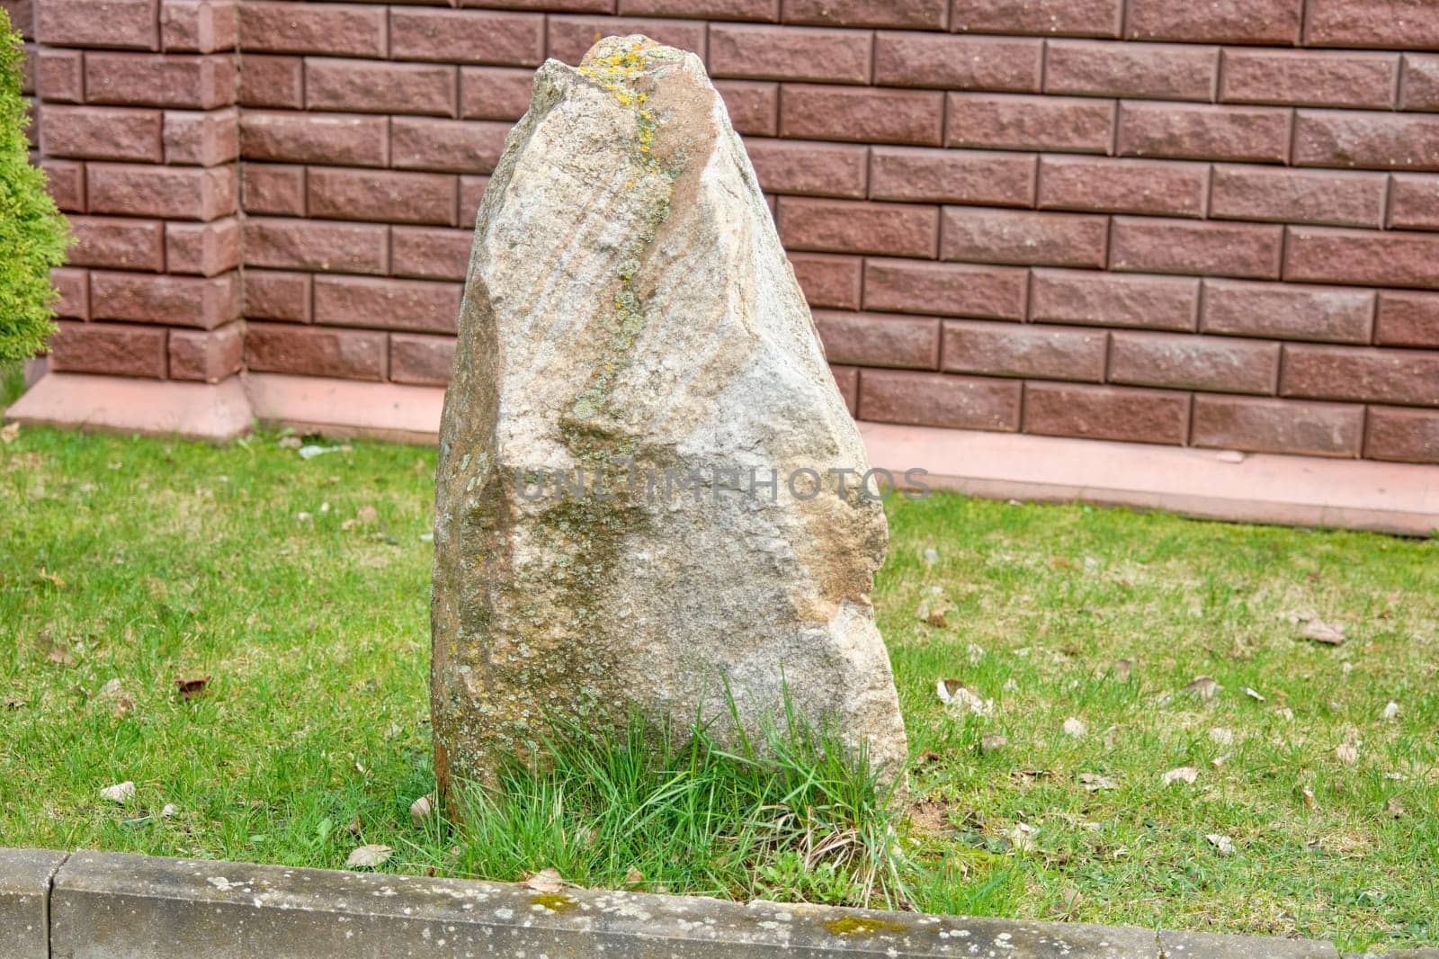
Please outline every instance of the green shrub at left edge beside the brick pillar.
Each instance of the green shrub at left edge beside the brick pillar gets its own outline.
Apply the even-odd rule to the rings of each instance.
[[[30,166],[22,58],[20,35],[0,7],[0,364],[35,356],[55,333],[50,268],[65,261],[69,229],[45,173]]]

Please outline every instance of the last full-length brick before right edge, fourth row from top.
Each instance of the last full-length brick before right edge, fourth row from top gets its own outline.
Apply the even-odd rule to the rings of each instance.
[[[1216,219],[1373,226],[1384,223],[1384,174],[1215,166]]]

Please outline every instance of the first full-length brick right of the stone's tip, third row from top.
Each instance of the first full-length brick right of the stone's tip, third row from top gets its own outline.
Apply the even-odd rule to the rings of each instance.
[[[780,96],[780,135],[938,147],[944,135],[944,94],[786,84]]]

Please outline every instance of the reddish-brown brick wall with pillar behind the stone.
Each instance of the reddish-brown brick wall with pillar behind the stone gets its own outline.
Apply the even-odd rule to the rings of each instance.
[[[532,69],[645,32],[861,419],[1439,462],[1433,0],[30,1],[56,369],[443,383]]]

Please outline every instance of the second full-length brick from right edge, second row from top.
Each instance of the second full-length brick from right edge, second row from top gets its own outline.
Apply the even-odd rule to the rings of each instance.
[[[1219,48],[1049,40],[1045,92],[1148,99],[1215,98]]]

